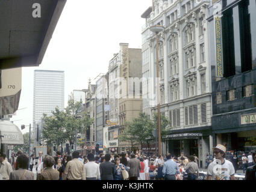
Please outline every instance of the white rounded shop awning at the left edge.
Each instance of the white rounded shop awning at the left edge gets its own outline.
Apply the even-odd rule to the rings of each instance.
[[[11,145],[24,144],[22,132],[19,130],[19,127],[17,127],[10,121],[0,120],[0,135],[1,135],[0,142],[3,144],[11,144]]]

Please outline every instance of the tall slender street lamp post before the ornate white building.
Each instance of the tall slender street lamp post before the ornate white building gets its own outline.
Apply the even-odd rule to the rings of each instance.
[[[158,33],[163,31],[164,27],[161,25],[154,25],[149,28],[152,32],[155,32],[155,38],[157,39],[157,115],[158,115],[158,155],[161,154],[161,126],[160,126],[160,83],[159,83],[159,61],[158,61]]]

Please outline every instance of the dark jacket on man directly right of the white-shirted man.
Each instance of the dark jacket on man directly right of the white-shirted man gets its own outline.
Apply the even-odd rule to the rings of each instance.
[[[114,163],[109,161],[99,164],[101,180],[114,180]]]

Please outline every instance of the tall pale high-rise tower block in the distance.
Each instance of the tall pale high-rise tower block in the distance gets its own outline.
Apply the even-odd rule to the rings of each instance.
[[[37,138],[38,136],[40,138],[42,133],[43,113],[52,115],[55,107],[64,110],[64,71],[34,70],[34,146],[40,145],[40,140]]]

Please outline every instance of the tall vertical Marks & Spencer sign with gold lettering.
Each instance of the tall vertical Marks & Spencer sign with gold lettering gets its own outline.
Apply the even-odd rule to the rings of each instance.
[[[221,17],[214,17],[215,43],[216,43],[216,77],[223,77],[223,59],[222,59],[222,35],[221,35]]]

